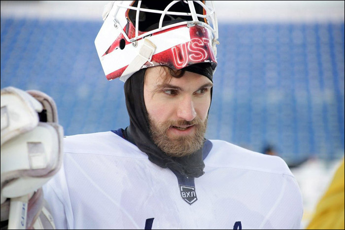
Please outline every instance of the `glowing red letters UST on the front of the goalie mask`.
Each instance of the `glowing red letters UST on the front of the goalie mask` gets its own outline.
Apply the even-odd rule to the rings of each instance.
[[[188,43],[179,44],[172,48],[174,64],[177,68],[185,67],[189,62],[201,62],[208,58],[207,50],[210,49],[210,41],[207,38],[192,38]]]

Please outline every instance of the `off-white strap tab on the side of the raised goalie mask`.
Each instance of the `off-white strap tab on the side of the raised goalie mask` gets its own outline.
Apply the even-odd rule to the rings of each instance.
[[[145,38],[144,43],[141,45],[138,55],[134,60],[128,65],[127,69],[123,72],[120,80],[126,82],[126,80],[131,77],[130,73],[135,73],[141,69],[141,67],[146,63],[151,61],[152,55],[156,50],[156,45],[152,43],[149,39]]]

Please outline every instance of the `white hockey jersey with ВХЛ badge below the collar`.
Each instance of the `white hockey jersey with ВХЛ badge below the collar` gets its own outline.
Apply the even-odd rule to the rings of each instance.
[[[57,229],[299,229],[297,182],[277,156],[212,140],[205,174],[183,178],[113,132],[66,137],[44,186]]]

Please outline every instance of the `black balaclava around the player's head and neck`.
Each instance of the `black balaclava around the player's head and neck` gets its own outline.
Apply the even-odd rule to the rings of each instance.
[[[144,101],[145,70],[146,68],[133,74],[124,85],[126,107],[130,116],[130,125],[124,131],[125,138],[146,153],[151,162],[162,168],[168,167],[187,177],[202,176],[205,168],[203,147],[188,156],[173,157],[162,152],[153,142]],[[212,81],[212,68],[209,63],[195,64],[184,70],[204,75]]]

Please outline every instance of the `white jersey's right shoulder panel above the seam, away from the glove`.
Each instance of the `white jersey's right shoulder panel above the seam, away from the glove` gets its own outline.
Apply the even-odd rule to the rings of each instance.
[[[213,167],[231,167],[293,176],[279,156],[256,153],[221,140],[210,140],[212,149],[205,164]]]

